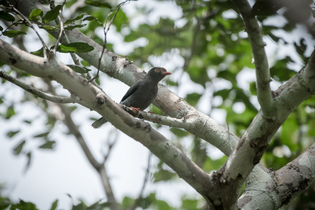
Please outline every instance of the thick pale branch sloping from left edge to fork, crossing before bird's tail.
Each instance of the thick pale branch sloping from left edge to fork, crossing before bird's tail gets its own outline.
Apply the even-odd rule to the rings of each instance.
[[[146,146],[153,154],[171,167],[206,199],[211,187],[209,174],[192,162],[180,149],[163,135],[154,130],[147,122],[130,116],[104,92],[88,83],[71,68],[55,60],[45,60],[26,53],[0,40],[0,58],[3,62],[21,68],[37,77],[53,79],[69,92],[76,94],[86,104],[93,107],[116,128]],[[98,166],[98,163],[93,163]],[[214,193],[214,192],[212,192]]]

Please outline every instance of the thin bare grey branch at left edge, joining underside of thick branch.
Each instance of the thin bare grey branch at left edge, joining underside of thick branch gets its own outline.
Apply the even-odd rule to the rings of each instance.
[[[65,96],[55,96],[55,95],[51,95],[48,93],[45,93],[43,91],[40,91],[24,82],[22,82],[21,80],[12,77],[11,75],[7,74],[4,71],[0,71],[0,77],[2,77],[3,79],[12,82],[13,84],[19,86],[20,88],[26,90],[27,92],[34,94],[36,96],[38,96],[39,98],[54,102],[54,103],[60,103],[60,104],[68,104],[68,103],[77,103],[80,99],[78,99],[77,97],[65,97]]]

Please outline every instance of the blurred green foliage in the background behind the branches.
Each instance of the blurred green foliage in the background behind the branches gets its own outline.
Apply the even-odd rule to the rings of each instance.
[[[169,17],[159,17],[159,19],[152,23],[150,21],[140,21],[139,26],[132,27],[131,22],[137,17],[141,16],[142,19],[150,19],[150,15],[153,14],[154,9],[149,7],[136,7],[135,14],[130,17],[127,16],[127,12],[122,7],[117,16],[115,17],[111,29],[122,37],[123,41],[132,43],[135,40],[143,37],[146,39],[146,45],[135,47],[133,52],[128,54],[129,60],[133,60],[139,67],[153,65],[152,55],[162,56],[163,53],[174,52],[173,49],[177,49],[180,57],[183,58],[184,63],[180,66],[175,66],[171,69],[172,72],[179,75],[188,75],[190,78],[191,92],[181,95],[189,104],[195,106],[207,106],[209,107],[208,114],[212,116],[212,109],[220,109],[226,113],[226,122],[229,122],[230,130],[238,136],[241,136],[248,128],[250,122],[257,114],[259,107],[255,103],[257,99],[256,85],[254,81],[247,82],[246,75],[241,71],[247,69],[251,72],[255,72],[255,65],[252,62],[252,50],[250,47],[247,35],[244,32],[243,21],[238,14],[237,9],[234,7],[231,1],[228,0],[211,0],[211,1],[185,1],[174,0],[172,1],[180,8],[182,15],[173,20]],[[70,8],[75,0],[66,1],[65,7]],[[137,3],[137,2],[135,2]],[[163,3],[163,1],[154,1],[154,3]],[[297,61],[302,64],[306,64],[308,60],[308,54],[306,55],[307,48],[313,48],[312,43],[306,41],[304,32],[300,32],[300,37],[290,39],[292,36],[296,36],[294,31],[298,30],[299,24],[307,28],[307,32],[314,39],[315,24],[309,24],[312,22],[312,18],[315,17],[313,9],[314,2],[312,0],[289,0],[289,1],[272,1],[272,0],[257,0],[251,11],[251,15],[257,15],[261,30],[266,39],[273,40],[277,46],[284,45],[291,47],[292,50],[285,56],[275,54],[270,60],[272,65],[270,66],[271,77],[274,82],[283,84],[289,78],[296,74],[296,69],[292,67]],[[69,30],[77,28],[83,32],[86,36],[94,39],[95,42],[103,45],[103,34],[99,33],[103,28],[100,23],[104,23],[108,14],[111,11],[113,13],[109,16],[109,20],[114,14],[113,9],[115,4],[111,4],[103,1],[88,1],[89,5],[79,7],[72,17],[65,20],[65,27]],[[56,6],[54,10],[43,16],[43,13],[35,9],[30,15],[30,19],[33,21],[39,21],[47,23],[53,20],[58,15],[60,6]],[[66,10],[65,10],[66,11]],[[16,21],[15,25],[9,28],[9,31],[3,33],[3,36],[12,37],[12,42],[21,46],[21,40],[23,34],[28,32],[28,27],[19,25],[18,19],[12,16],[7,11],[0,11],[0,19],[5,23],[1,25],[0,29],[7,29],[12,21]],[[266,20],[275,21],[266,21]],[[284,24],[277,24],[277,20],[284,20]],[[306,20],[308,21],[306,23]],[[274,24],[271,24],[273,22]],[[55,30],[51,26],[43,25],[48,30]],[[277,32],[284,32],[287,36],[280,36]],[[118,38],[118,37],[117,37]],[[49,36],[49,43],[47,46],[54,46],[55,39]],[[23,42],[23,40],[22,40]],[[115,53],[114,43],[107,43],[106,48]],[[71,47],[72,51],[79,51],[82,47]],[[267,46],[268,48],[268,46]],[[61,49],[60,49],[61,50]],[[67,48],[68,50],[68,48]],[[90,48],[89,50],[92,50]],[[43,54],[43,50],[34,52],[38,55]],[[296,56],[297,55],[297,56]],[[300,60],[296,60],[298,57]],[[166,58],[168,59],[168,58]],[[88,67],[89,63],[81,61],[84,67]],[[0,63],[3,66],[3,63]],[[6,65],[5,65],[6,66]],[[8,66],[6,66],[8,67]],[[15,74],[17,78],[31,77],[31,75],[20,71],[15,68],[8,67],[8,73]],[[89,69],[78,69],[78,73],[85,73]],[[212,73],[211,73],[212,72]],[[218,81],[223,82],[224,85],[218,85]],[[1,79],[1,83],[5,81]],[[96,82],[100,84],[100,80]],[[165,81],[168,86],[172,88],[181,88],[186,86],[181,81],[181,77],[169,77]],[[248,83],[248,88],[241,86],[241,83]],[[1,84],[2,85],[2,84]],[[197,91],[193,85],[199,85],[203,87],[204,91]],[[210,88],[209,88],[210,87]],[[201,99],[205,96],[205,90],[209,88],[213,97],[219,97],[222,99],[221,103],[213,103],[209,105],[202,105]],[[209,96],[208,96],[209,97]],[[254,99],[254,100],[253,100]],[[49,104],[43,99],[39,99],[29,93],[25,93],[24,99],[21,103],[26,101],[34,101],[44,112],[47,113],[46,127],[47,131],[33,133],[32,137],[24,138],[20,133],[22,129],[16,128],[12,130],[4,131],[8,139],[12,139],[15,143],[13,150],[14,155],[25,155],[27,158],[27,166],[30,166],[31,156],[34,148],[28,147],[30,139],[38,139],[37,149],[53,149],[56,142],[50,139],[51,133],[54,132],[55,123],[57,118],[53,115],[49,115]],[[233,105],[242,104],[245,106],[243,111],[239,111],[234,108]],[[15,115],[19,114],[15,110],[15,104],[6,100],[5,94],[0,92],[0,106],[2,107],[0,116],[3,120],[12,120]],[[69,109],[75,110],[76,106],[69,107]],[[155,114],[164,115],[154,105],[150,107],[151,111]],[[36,119],[23,119],[21,125],[31,126],[32,122]],[[156,125],[161,127],[160,125]],[[315,140],[315,96],[310,97],[304,101],[298,109],[293,111],[288,119],[284,122],[281,128],[271,141],[271,144],[267,148],[263,155],[261,162],[266,167],[273,167],[275,170],[286,165],[288,162],[294,160],[303,151],[305,151]],[[173,134],[173,139],[176,144],[179,144],[180,149],[191,157],[191,159],[204,171],[211,173],[214,170],[218,170],[226,161],[226,156],[221,156],[218,159],[211,159],[209,156],[208,143],[205,143],[202,139],[195,138],[190,133],[179,128],[170,128]],[[190,139],[189,144],[181,142],[182,139]],[[154,182],[171,182],[178,179],[177,174],[167,167],[163,162],[159,162],[152,175]],[[282,209],[314,209],[314,187],[310,187],[305,193],[298,198],[294,199],[288,206],[282,207]],[[187,197],[182,198],[182,206],[180,209],[200,209],[202,207],[202,198],[190,199]],[[121,203],[121,206],[125,209],[131,207],[135,202],[134,198],[125,197]],[[19,203],[13,204],[8,198],[0,198],[0,209],[5,205],[12,205],[17,209],[36,209],[36,206],[31,202],[25,202],[20,200]],[[73,205],[72,209],[101,209],[106,207],[107,203],[97,202],[92,206],[87,206],[83,201]],[[8,207],[8,206],[7,206]],[[51,209],[57,207],[57,201],[55,201]],[[174,209],[170,207],[165,201],[156,198],[154,192],[147,196],[144,196],[138,202],[138,207],[143,209]]]

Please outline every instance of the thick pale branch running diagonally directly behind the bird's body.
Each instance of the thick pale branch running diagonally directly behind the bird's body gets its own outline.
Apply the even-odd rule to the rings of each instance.
[[[11,0],[17,3],[16,0]],[[26,0],[17,3],[17,8],[25,14],[29,14],[30,8],[38,8],[43,10],[44,13],[49,11],[44,4],[39,1]],[[49,22],[52,24],[53,22]],[[49,33],[55,38],[59,35],[59,30],[49,30]],[[102,46],[95,43],[91,38],[85,36],[77,29],[72,31],[65,31],[68,41],[72,42],[84,42],[94,47],[94,50],[88,53],[77,53],[82,59],[89,62],[89,64],[98,67]],[[63,40],[61,39],[61,43]],[[145,72],[140,70],[137,66],[132,64],[128,59],[122,58],[109,50],[106,50],[102,56],[100,71],[114,77],[127,85],[131,86],[145,75]],[[153,101],[153,104],[161,109],[164,113],[170,117],[179,119],[190,119],[196,121],[194,128],[189,128],[187,131],[196,135],[197,137],[206,140],[210,144],[219,148],[224,154],[229,155],[231,153],[231,146],[229,138],[232,142],[232,146],[235,146],[238,142],[238,137],[233,133],[228,135],[228,131],[225,127],[215,122],[209,116],[197,111],[194,107],[189,105],[183,98],[170,91],[164,85],[159,85],[159,91],[157,98]]]

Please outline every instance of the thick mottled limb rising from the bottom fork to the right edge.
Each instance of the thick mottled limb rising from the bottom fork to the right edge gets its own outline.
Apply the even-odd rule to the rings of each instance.
[[[234,195],[231,193],[232,195],[230,195],[226,203],[232,200],[236,202],[244,180],[260,161],[274,133],[298,105],[315,93],[314,69],[315,51],[312,53],[305,68],[275,92],[274,100],[277,105],[277,116],[274,117],[275,119],[268,119],[259,111],[238,142],[238,145],[233,149],[225,165],[217,173],[212,174],[211,177],[220,183],[222,193],[227,190],[235,193]],[[226,190],[223,190],[224,188]],[[235,205],[235,203],[232,205]]]

